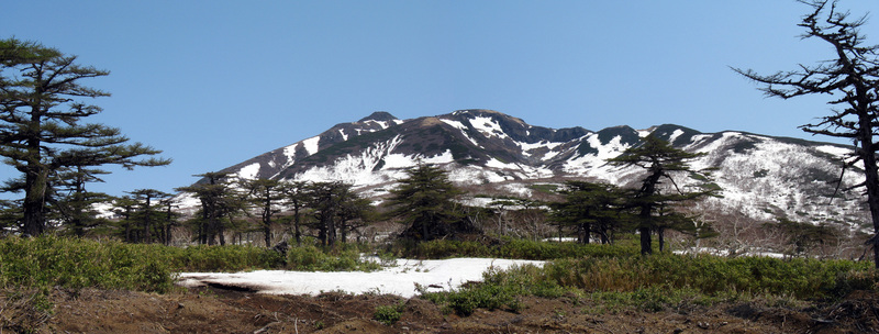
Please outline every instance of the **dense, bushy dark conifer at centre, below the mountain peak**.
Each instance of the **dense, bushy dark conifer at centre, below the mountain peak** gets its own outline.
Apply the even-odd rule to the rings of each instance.
[[[402,235],[430,241],[461,230],[461,226],[454,226],[461,222],[454,201],[461,191],[439,167],[419,165],[407,170],[407,177],[390,192],[389,216],[400,219],[408,226]]]

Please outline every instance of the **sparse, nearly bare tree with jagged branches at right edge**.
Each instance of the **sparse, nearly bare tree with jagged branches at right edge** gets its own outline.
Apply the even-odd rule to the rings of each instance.
[[[879,45],[864,45],[860,27],[866,16],[850,20],[848,12],[836,9],[836,1],[800,1],[812,8],[799,26],[805,30],[802,38],[817,38],[830,44],[834,58],[813,66],[799,65],[792,71],[778,71],[761,76],[754,70],[733,68],[736,73],[766,85],[760,88],[769,97],[790,99],[806,94],[831,94],[827,104],[833,114],[820,122],[801,125],[811,134],[852,140],[855,151],[846,167],[857,163],[864,166],[867,204],[874,226],[874,237],[868,242],[874,248],[874,259],[879,268]]]

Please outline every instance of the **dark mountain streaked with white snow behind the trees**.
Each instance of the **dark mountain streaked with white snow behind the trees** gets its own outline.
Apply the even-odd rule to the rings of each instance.
[[[836,192],[842,159],[850,148],[837,144],[736,131],[702,133],[663,124],[646,130],[615,126],[548,129],[491,110],[399,120],[376,112],[225,168],[242,178],[341,180],[380,199],[416,164],[442,165],[450,179],[471,192],[537,196],[536,183],[565,179],[634,186],[636,167],[605,163],[654,134],[675,147],[704,153],[691,162],[712,168],[721,198],[699,208],[770,221],[832,222],[857,226],[866,212],[860,194]],[[843,175],[842,189],[859,182],[859,170]],[[679,186],[696,180],[678,177]]]

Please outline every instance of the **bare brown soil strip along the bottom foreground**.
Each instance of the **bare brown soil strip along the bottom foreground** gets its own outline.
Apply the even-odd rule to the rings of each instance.
[[[268,296],[219,288],[155,294],[81,290],[52,293],[53,311],[27,309],[0,293],[0,333],[876,333],[879,294],[856,292],[806,309],[733,303],[660,312],[601,311],[576,297],[525,298],[519,313],[444,314],[419,298],[324,293]],[[372,320],[379,305],[404,303],[392,326]]]

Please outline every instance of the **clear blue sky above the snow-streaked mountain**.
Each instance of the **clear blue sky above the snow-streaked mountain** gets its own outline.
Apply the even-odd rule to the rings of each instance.
[[[843,0],[856,15],[879,1]],[[173,191],[374,111],[498,110],[533,125],[676,123],[811,137],[825,97],[767,99],[764,74],[830,59],[793,0],[3,1],[0,37],[111,71],[94,122],[163,149],[167,167],[92,189]],[[879,44],[876,18],[865,29]],[[116,169],[112,169],[116,170]],[[7,179],[13,171],[0,169]]]

